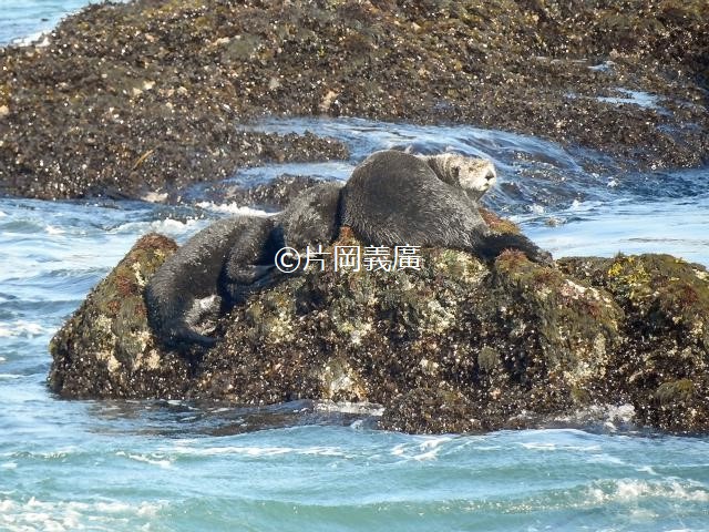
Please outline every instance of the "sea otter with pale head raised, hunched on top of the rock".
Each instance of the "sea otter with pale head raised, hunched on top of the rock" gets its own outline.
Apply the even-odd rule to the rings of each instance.
[[[393,150],[373,153],[342,190],[342,224],[368,244],[451,247],[485,260],[515,248],[532,260],[551,262],[525,236],[493,233],[482,218],[476,200],[495,174],[491,163],[489,171],[481,161]]]

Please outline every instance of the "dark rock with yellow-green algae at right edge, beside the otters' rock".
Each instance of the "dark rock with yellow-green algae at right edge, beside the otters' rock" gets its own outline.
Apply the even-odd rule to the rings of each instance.
[[[709,274],[670,255],[569,258],[561,267],[608,290],[625,313],[613,387],[638,420],[709,429]]]

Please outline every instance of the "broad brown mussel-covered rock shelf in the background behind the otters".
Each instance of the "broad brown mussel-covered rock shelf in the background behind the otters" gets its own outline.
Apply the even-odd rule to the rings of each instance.
[[[237,166],[347,154],[238,129],[265,115],[466,123],[699,165],[708,33],[702,1],[92,6],[0,49],[0,193],[176,200]]]

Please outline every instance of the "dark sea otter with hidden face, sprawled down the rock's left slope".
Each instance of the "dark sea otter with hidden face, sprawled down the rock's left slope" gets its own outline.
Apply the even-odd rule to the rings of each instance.
[[[287,245],[327,245],[339,229],[341,184],[322,183],[299,194],[277,217],[237,216],[193,236],[151,277],[145,300],[151,327],[165,347],[210,347],[203,324],[239,305],[279,276],[274,256]],[[199,330],[203,329],[203,330]]]

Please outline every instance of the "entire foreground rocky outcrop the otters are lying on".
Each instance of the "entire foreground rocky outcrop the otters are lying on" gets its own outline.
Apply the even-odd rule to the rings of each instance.
[[[343,229],[336,245],[358,245]],[[285,276],[225,316],[201,358],[163,352],[141,286],[174,249],[143,237],[51,345],[64,397],[234,403],[368,401],[380,427],[470,432],[534,427],[631,403],[636,421],[709,431],[709,275],[664,255],[504,252],[493,265],[423,249],[420,269]]]

